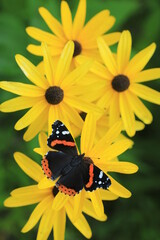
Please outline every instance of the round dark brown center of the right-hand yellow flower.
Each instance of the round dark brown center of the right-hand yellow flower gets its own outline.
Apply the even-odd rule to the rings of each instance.
[[[117,92],[123,92],[129,88],[130,82],[127,76],[117,75],[112,80],[112,87]]]

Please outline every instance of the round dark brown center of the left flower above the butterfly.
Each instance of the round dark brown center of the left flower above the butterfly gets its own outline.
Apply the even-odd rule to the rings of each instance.
[[[63,90],[57,86],[49,87],[45,93],[45,98],[47,102],[53,105],[59,104],[63,100],[63,97]]]

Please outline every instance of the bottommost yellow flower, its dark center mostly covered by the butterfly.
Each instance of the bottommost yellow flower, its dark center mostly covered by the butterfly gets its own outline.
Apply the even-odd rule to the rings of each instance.
[[[46,142],[47,135],[40,133],[40,148],[35,149],[35,151],[42,156],[48,151]],[[21,207],[37,203],[27,223],[22,228],[23,233],[30,231],[40,221],[37,240],[47,239],[52,228],[54,240],[64,240],[67,214],[72,224],[86,238],[90,238],[92,232],[82,212],[99,221],[107,219],[104,213],[101,216],[96,215],[92,202],[85,197],[85,191],[76,197],[60,193],[55,187],[55,182],[44,177],[42,168],[36,162],[18,152],[14,154],[14,158],[21,169],[37,182],[34,185],[13,190],[11,196],[4,202],[6,207]],[[108,191],[102,190],[100,193],[101,199],[117,199],[115,194]],[[80,200],[82,205],[78,204]]]

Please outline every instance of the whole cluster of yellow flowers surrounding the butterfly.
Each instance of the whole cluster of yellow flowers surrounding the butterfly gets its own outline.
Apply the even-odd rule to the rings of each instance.
[[[15,129],[27,127],[25,141],[39,134],[40,147],[34,150],[42,157],[49,151],[47,135],[52,132],[53,122],[62,121],[75,138],[81,135],[80,152],[107,173],[111,186],[92,192],[83,189],[74,197],[65,195],[58,192],[55,181],[44,176],[41,166],[16,152],[15,161],[36,184],[13,190],[4,205],[38,203],[22,229],[27,232],[40,221],[37,240],[47,239],[52,229],[55,240],[64,240],[66,214],[90,238],[92,232],[83,213],[105,221],[103,200],[131,196],[108,172],[132,174],[138,170],[135,164],[119,161],[117,157],[133,145],[121,131],[132,137],[144,124],[152,122],[152,114],[139,97],[160,104],[160,93],[141,84],[160,78],[160,68],[143,70],[156,45],[152,43],[130,59],[130,32],[107,34],[115,22],[108,10],[85,24],[86,0],[79,1],[73,21],[66,1],[61,1],[62,23],[43,7],[39,12],[51,32],[28,27],[28,35],[40,45],[29,45],[27,49],[42,56],[43,61],[34,66],[25,57],[16,55],[17,64],[31,84],[1,81],[1,89],[19,96],[2,103],[0,110],[14,112],[29,108]],[[110,46],[116,43],[117,53],[113,53]]]

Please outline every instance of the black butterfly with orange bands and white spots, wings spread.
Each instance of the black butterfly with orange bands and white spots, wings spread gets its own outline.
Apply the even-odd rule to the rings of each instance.
[[[66,126],[57,120],[52,129],[47,145],[54,151],[49,151],[41,163],[47,178],[58,178],[58,190],[75,196],[83,188],[86,191],[108,189],[111,185],[109,177],[89,157],[85,157],[84,153],[78,154],[75,141]]]

